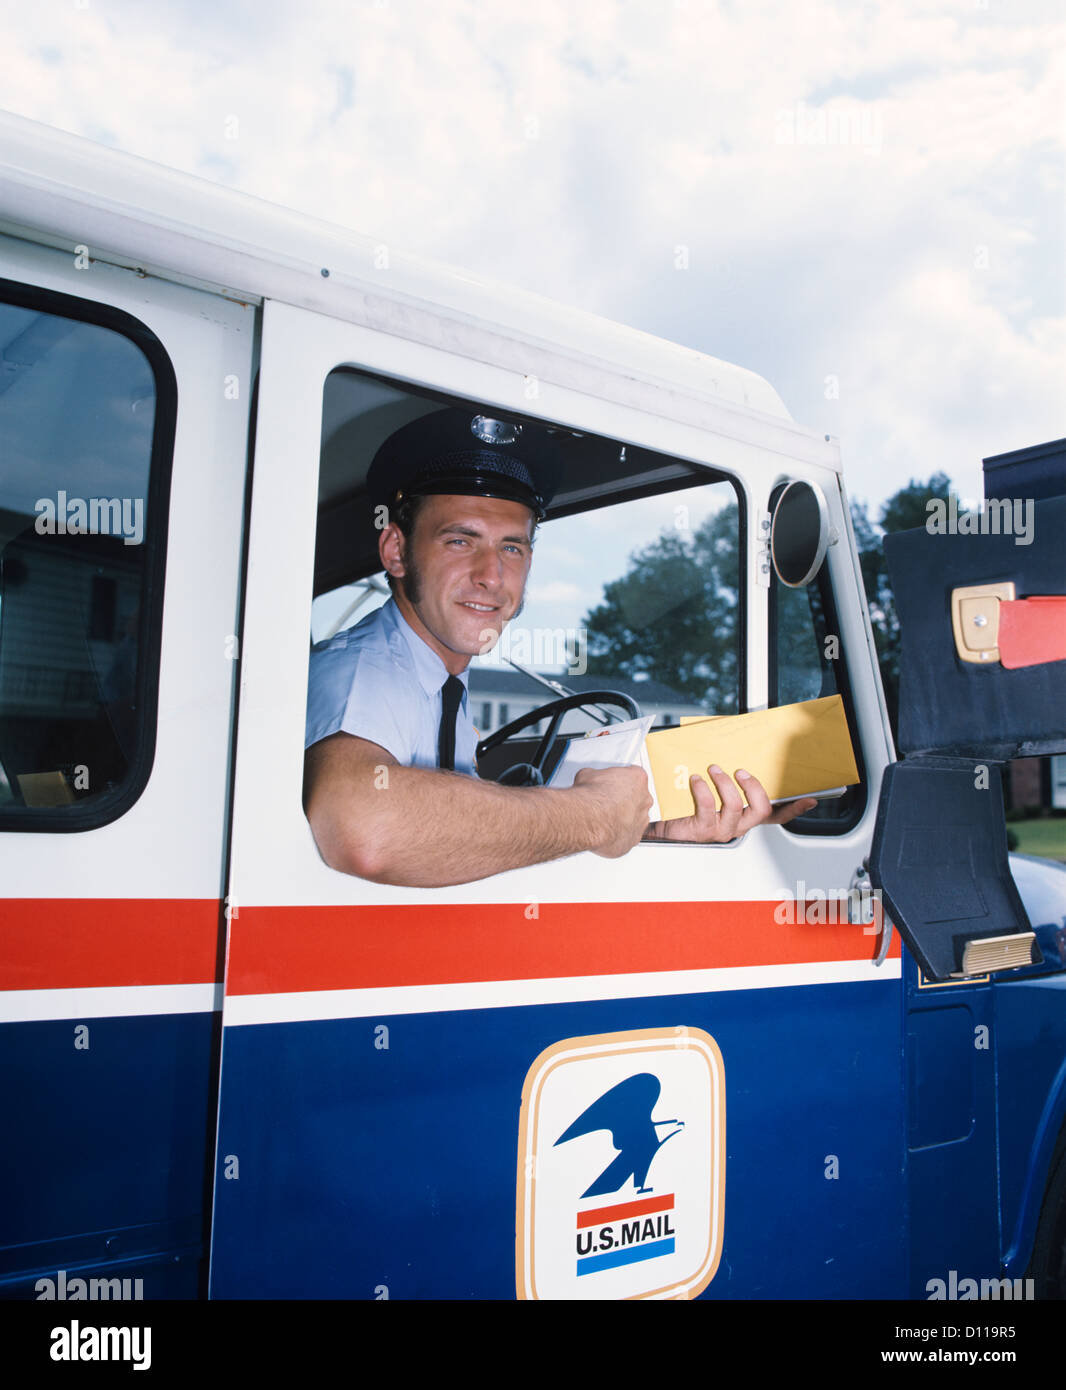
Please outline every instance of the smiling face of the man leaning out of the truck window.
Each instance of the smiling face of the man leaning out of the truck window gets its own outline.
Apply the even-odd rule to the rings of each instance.
[[[521,609],[531,531],[532,513],[520,502],[429,496],[410,542],[399,530],[382,535],[385,566],[402,581],[400,610],[453,674],[495,646]]]

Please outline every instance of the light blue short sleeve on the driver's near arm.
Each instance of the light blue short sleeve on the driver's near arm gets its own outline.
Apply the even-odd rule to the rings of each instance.
[[[413,760],[410,682],[377,652],[325,646],[311,651],[304,748],[331,734],[353,734],[378,744],[409,766]]]

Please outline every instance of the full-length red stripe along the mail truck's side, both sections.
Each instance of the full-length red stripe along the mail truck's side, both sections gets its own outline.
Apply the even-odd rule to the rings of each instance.
[[[211,898],[17,898],[0,910],[0,990],[214,983],[220,941],[221,903]],[[877,944],[862,926],[805,922],[802,903],[242,908],[227,992],[869,960]]]

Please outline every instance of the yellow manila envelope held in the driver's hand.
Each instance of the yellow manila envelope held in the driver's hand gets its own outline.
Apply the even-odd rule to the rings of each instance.
[[[770,801],[791,801],[859,781],[839,695],[751,714],[684,719],[680,728],[650,733],[646,748],[663,820],[694,815],[688,785],[692,773],[714,790],[707,777],[710,763],[730,777],[738,767],[749,771]]]

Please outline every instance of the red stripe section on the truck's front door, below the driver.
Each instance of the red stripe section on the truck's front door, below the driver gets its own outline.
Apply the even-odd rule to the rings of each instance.
[[[802,919],[802,905],[788,906]],[[776,902],[242,908],[231,923],[227,994],[871,960],[877,954],[878,937],[862,926],[782,923],[776,912],[789,915]],[[899,955],[898,937],[892,949]]]

